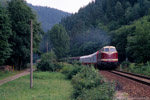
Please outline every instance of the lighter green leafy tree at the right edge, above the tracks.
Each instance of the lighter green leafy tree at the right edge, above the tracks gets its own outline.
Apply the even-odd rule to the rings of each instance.
[[[135,62],[150,61],[150,17],[143,17],[133,24],[136,28],[128,36],[127,52]]]

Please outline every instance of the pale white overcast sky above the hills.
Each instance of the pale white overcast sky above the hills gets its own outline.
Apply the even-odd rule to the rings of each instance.
[[[94,0],[26,0],[32,5],[48,6],[69,13],[77,12],[81,7],[86,6]]]

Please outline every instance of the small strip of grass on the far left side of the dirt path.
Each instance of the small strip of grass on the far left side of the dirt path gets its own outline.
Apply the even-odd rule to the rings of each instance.
[[[13,76],[13,75],[16,75],[18,73],[19,73],[19,71],[13,71],[13,72],[12,71],[0,71],[0,80],[10,77],[10,76]]]

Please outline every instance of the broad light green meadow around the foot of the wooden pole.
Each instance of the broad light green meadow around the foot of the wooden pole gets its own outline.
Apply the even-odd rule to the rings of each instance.
[[[65,75],[56,72],[34,72],[34,85],[29,88],[29,75],[0,86],[0,100],[70,100],[73,88]]]

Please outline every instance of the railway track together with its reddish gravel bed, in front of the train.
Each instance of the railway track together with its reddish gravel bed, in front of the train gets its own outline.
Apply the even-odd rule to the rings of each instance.
[[[119,75],[120,71],[100,71],[100,74],[107,80],[115,82],[115,89],[129,94],[131,100],[150,100],[150,77],[137,75],[133,73],[123,72]],[[125,75],[127,74],[127,75]],[[133,76],[133,77],[131,77]],[[135,77],[138,77],[135,78]],[[139,78],[140,77],[140,78]],[[146,78],[143,78],[146,77]],[[147,81],[145,81],[147,80]],[[121,99],[123,100],[123,99]],[[128,99],[125,99],[128,100]]]

